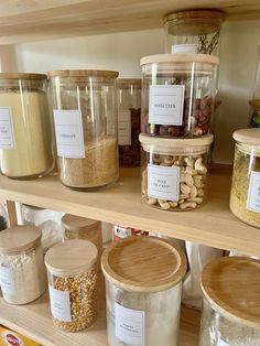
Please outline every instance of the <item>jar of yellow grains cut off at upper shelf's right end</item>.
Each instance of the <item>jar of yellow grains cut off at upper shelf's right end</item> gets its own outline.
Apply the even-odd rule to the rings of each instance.
[[[260,228],[260,129],[237,130],[230,209],[243,223]]]

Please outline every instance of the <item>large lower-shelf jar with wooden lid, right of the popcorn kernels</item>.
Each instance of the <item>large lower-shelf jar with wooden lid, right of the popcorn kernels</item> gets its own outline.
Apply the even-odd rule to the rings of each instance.
[[[109,346],[176,346],[183,251],[155,237],[113,242],[101,259]]]

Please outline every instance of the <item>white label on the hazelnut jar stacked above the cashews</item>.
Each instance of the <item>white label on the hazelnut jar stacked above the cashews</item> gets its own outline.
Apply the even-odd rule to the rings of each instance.
[[[184,85],[151,85],[149,123],[181,126],[183,123]]]

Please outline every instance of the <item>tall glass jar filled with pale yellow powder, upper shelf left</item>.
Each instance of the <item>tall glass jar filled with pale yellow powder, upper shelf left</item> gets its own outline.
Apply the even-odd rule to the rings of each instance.
[[[54,166],[46,76],[0,74],[0,166],[12,179],[33,179]]]

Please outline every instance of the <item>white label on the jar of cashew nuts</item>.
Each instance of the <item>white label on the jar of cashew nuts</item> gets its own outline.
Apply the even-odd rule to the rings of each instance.
[[[178,201],[180,167],[148,165],[148,195],[159,199]]]

